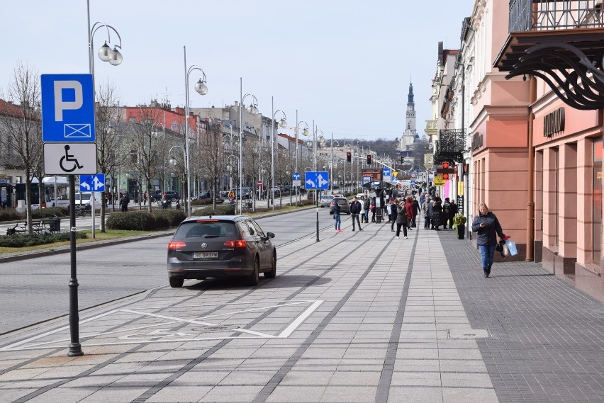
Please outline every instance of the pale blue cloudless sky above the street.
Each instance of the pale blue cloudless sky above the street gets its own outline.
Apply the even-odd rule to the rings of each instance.
[[[430,119],[437,44],[459,47],[462,20],[474,0],[432,1],[156,1],[90,0],[91,24],[112,25],[123,63],[96,57],[106,31],[94,35],[95,76],[110,82],[121,103],[168,99],[184,106],[184,60],[202,67],[209,92],[190,76],[191,107],[230,105],[243,92],[262,115],[284,110],[289,126],[305,120],[335,138],[393,139],[404,131],[413,80],[418,133]],[[0,88],[18,62],[40,74],[87,73],[84,0],[33,0],[3,7]],[[111,36],[116,42],[115,35]]]

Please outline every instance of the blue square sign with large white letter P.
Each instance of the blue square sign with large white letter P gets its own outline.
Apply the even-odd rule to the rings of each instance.
[[[94,142],[92,74],[42,74],[42,141]]]

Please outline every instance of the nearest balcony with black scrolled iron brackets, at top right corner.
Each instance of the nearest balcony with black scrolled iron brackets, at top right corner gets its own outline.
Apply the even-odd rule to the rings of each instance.
[[[511,0],[510,35],[493,64],[545,81],[564,103],[604,106],[603,0]]]

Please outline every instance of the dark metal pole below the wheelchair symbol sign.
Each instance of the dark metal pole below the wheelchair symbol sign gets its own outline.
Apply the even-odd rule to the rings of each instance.
[[[69,278],[69,344],[68,357],[83,356],[79,344],[79,314],[77,312],[77,266],[76,266],[76,225],[75,225],[75,175],[69,175],[69,248],[71,252],[71,278]]]

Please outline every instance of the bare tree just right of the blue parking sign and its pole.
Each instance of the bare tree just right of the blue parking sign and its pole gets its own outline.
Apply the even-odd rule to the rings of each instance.
[[[96,91],[96,161],[98,161],[101,174],[114,172],[122,160],[121,155],[118,154],[121,132],[116,98],[116,91],[112,85],[100,86]],[[105,204],[106,193],[103,193],[101,196],[101,232],[105,232]]]

